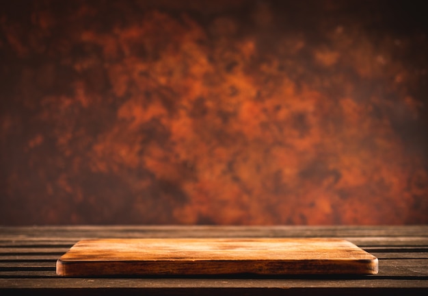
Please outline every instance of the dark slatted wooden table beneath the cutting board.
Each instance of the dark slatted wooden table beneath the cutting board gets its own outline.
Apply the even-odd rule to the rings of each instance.
[[[68,278],[55,262],[84,238],[345,238],[379,258],[377,275]],[[0,295],[428,295],[428,225],[0,226]]]

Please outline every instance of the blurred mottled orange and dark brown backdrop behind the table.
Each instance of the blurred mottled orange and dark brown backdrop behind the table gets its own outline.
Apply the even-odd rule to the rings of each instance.
[[[0,2],[0,224],[428,223],[423,1]]]

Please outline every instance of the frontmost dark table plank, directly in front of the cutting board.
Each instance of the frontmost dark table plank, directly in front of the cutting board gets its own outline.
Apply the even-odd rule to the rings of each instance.
[[[370,279],[242,279],[242,278],[42,278],[42,279],[1,279],[0,288],[27,288],[27,289],[74,289],[74,292],[83,288],[90,289],[114,289],[138,288],[140,295],[144,294],[145,288],[150,289],[180,289],[180,288],[202,288],[207,293],[212,288],[218,288],[217,293],[227,288],[305,288],[310,291],[311,288],[327,288],[330,293],[338,288],[423,288],[428,289],[427,280],[377,280],[375,277],[368,276]],[[266,291],[266,290],[263,290]],[[284,290],[286,292],[288,290]],[[95,291],[94,291],[95,292]],[[236,293],[237,291],[235,291]],[[241,294],[237,294],[241,295]],[[393,294],[394,295],[394,294]]]

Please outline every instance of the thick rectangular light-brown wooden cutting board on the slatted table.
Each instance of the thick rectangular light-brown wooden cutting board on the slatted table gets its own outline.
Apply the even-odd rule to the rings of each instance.
[[[335,238],[131,238],[81,240],[57,275],[376,274],[377,258]]]

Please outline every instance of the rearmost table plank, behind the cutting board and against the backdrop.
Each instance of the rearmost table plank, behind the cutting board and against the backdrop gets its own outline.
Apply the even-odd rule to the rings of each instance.
[[[2,237],[353,237],[353,236],[428,236],[427,225],[414,226],[38,226],[0,227]]]

